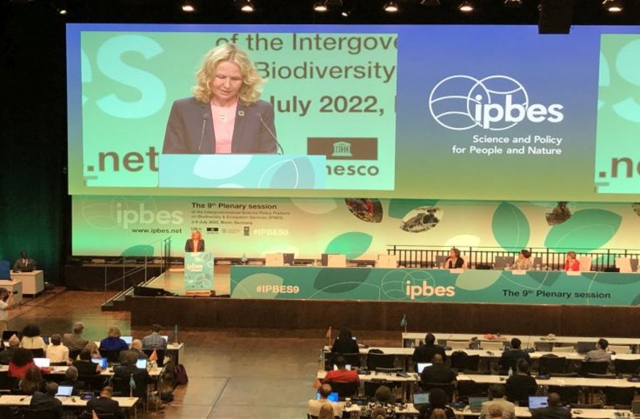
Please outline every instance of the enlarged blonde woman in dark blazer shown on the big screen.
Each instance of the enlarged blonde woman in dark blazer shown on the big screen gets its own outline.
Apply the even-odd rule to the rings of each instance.
[[[273,107],[259,99],[264,80],[245,51],[213,48],[196,80],[193,97],[171,107],[163,153],[276,153]]]

